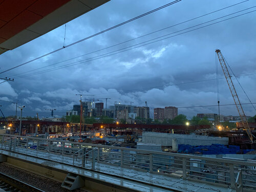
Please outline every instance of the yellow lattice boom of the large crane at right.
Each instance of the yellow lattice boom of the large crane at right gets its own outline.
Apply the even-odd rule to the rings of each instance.
[[[216,49],[215,52],[217,53],[218,55],[218,58],[219,58],[219,61],[220,61],[220,64],[221,64],[221,68],[223,70],[223,73],[225,75],[225,78],[227,80],[227,84],[228,84],[228,87],[229,87],[229,90],[231,92],[231,95],[234,99],[234,103],[236,104],[237,106],[237,110],[238,110],[238,113],[240,115],[240,118],[241,118],[241,121],[242,121],[242,124],[244,126],[244,130],[246,131],[249,139],[251,142],[253,142],[253,136],[251,134],[251,130],[250,130],[250,127],[249,127],[249,124],[248,124],[248,121],[247,121],[247,118],[245,116],[245,113],[244,113],[244,110],[242,108],[242,105],[241,105],[241,102],[239,100],[239,97],[238,97],[238,94],[237,94],[237,91],[236,89],[234,88],[234,84],[232,82],[232,79],[231,79],[231,76],[228,72],[228,69],[227,69],[227,66],[226,66],[226,62],[225,62],[225,59],[221,53],[221,50],[219,49]]]

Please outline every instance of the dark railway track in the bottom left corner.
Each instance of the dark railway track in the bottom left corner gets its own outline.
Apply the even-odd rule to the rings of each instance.
[[[32,185],[14,179],[0,172],[0,192],[43,192]]]

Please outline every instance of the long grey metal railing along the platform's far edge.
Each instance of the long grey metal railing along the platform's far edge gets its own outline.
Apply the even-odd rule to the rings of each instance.
[[[256,162],[210,158],[195,155],[138,150],[109,145],[79,143],[35,137],[2,136],[1,148],[7,151],[33,150],[73,158],[73,165],[95,168],[95,163],[111,164],[187,180],[222,185],[243,191],[256,190]],[[236,179],[239,176],[239,180]]]

